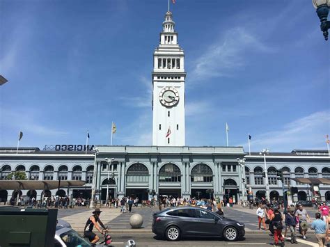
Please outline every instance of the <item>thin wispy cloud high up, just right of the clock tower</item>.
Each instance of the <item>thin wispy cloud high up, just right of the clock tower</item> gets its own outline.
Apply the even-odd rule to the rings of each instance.
[[[274,52],[275,49],[262,43],[253,33],[244,27],[235,27],[216,40],[210,49],[193,63],[191,79],[208,79],[211,77],[232,77],[233,72],[246,64],[244,51]]]

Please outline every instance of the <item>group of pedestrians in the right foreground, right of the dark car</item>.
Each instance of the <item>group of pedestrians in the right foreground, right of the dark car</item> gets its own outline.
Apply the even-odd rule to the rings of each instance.
[[[268,203],[267,200],[264,200],[263,203],[258,204],[256,211],[259,230],[271,232],[274,236],[274,246],[283,246],[287,234],[290,234],[291,244],[298,244],[296,232],[301,234],[302,239],[306,239],[308,228],[315,231],[319,246],[323,247],[325,241],[330,240],[329,207],[324,202],[318,208],[319,212],[315,214],[313,223],[302,205],[290,205],[285,214],[281,214],[280,209],[281,203]]]

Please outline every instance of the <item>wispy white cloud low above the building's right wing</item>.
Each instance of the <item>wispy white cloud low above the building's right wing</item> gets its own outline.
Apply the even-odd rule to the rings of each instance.
[[[252,135],[251,148],[288,152],[288,149],[325,149],[325,135],[330,130],[330,111],[318,111],[284,125],[278,130]],[[241,144],[247,147],[247,143]],[[293,148],[292,148],[293,147]],[[246,150],[246,149],[245,149]]]

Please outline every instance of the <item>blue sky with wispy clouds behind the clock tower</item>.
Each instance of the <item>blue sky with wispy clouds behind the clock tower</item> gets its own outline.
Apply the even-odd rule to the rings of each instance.
[[[0,1],[0,146],[151,145],[166,0]],[[330,51],[311,1],[177,0],[186,144],[326,149]]]

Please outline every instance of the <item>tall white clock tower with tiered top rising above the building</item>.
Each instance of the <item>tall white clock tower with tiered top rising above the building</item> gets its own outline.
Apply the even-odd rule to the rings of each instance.
[[[152,72],[152,145],[184,146],[184,51],[168,11],[154,51]]]

